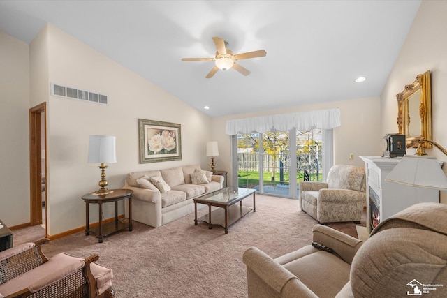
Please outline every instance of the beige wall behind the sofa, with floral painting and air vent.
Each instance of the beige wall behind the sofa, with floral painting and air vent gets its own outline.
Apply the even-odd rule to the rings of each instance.
[[[38,53],[33,73],[48,73],[48,80],[45,75],[35,76],[31,86],[39,100],[47,100],[50,236],[85,225],[85,203],[80,198],[96,191],[101,178],[98,165],[87,163],[89,135],[117,137],[117,163],[106,170],[108,188],[121,188],[128,172],[202,163],[210,117],[51,24],[33,40],[33,50]],[[50,82],[106,94],[109,104],[47,95]],[[140,164],[139,118],[181,124],[182,160]],[[91,205],[91,222],[98,221],[97,210]],[[112,217],[114,210],[114,204],[105,204],[105,218]],[[119,211],[123,213],[122,204]]]

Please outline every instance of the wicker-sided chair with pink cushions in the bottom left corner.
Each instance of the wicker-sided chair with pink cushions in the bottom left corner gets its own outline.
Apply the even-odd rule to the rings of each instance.
[[[98,255],[46,258],[41,245],[49,241],[0,252],[0,297],[115,297],[112,270],[96,264]]]

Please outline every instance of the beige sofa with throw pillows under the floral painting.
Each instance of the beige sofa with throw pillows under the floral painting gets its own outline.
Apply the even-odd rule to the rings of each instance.
[[[204,175],[206,180],[203,180]],[[165,170],[131,172],[127,174],[123,188],[133,191],[132,219],[158,228],[193,212],[192,199],[223,188],[223,180],[223,176],[201,170],[200,165],[186,165]],[[159,182],[161,185],[157,187]],[[127,201],[124,209],[126,217],[129,217]]]

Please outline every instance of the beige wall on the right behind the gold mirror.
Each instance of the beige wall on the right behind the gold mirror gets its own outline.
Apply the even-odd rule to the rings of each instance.
[[[406,37],[402,50],[381,94],[381,135],[397,132],[396,94],[416,75],[430,70],[432,73],[432,137],[447,147],[447,1],[423,1]],[[414,149],[407,149],[413,154]],[[427,154],[447,161],[438,149],[427,149]],[[444,165],[447,174],[447,165]],[[447,204],[447,192],[441,191],[441,202]]]

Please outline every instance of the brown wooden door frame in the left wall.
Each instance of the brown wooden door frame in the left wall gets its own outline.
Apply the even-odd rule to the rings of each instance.
[[[47,103],[29,109],[30,224],[42,224],[42,168],[45,169],[45,231],[47,230]],[[43,126],[43,127],[42,127]],[[42,133],[43,132],[43,133]],[[44,156],[42,156],[44,149]],[[42,158],[44,164],[42,165]]]

